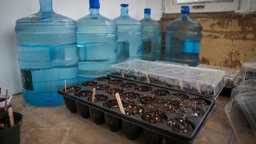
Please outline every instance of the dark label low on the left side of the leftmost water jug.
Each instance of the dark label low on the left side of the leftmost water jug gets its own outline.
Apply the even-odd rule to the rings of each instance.
[[[34,91],[31,71],[20,69],[20,75],[23,89]]]

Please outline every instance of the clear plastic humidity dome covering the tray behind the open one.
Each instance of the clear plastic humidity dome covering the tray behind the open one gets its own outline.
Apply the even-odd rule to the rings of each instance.
[[[225,71],[196,68],[170,63],[131,60],[117,63],[109,67],[111,71],[120,73],[123,69],[124,74],[158,79],[163,83],[172,86],[179,86],[179,80],[182,79],[185,89],[196,89],[195,82],[201,87],[201,91],[213,92],[213,95],[219,94],[226,83]]]

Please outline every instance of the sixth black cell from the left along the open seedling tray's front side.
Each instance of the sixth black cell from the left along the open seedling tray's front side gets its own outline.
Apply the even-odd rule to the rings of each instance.
[[[143,136],[146,144],[157,144],[162,143],[163,135],[143,129]]]

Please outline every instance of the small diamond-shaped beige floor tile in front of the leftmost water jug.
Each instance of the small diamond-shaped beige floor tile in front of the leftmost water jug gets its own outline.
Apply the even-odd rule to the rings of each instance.
[[[68,118],[70,118],[70,114],[67,114],[62,110],[57,110],[49,115],[41,117],[41,119],[43,119],[45,122],[49,123],[50,125],[54,125],[59,122],[65,121]]]

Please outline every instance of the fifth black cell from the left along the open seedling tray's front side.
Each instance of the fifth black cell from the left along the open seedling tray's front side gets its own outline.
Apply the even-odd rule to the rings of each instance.
[[[137,139],[139,135],[139,126],[123,121],[122,127],[123,127],[124,134],[129,140]]]

